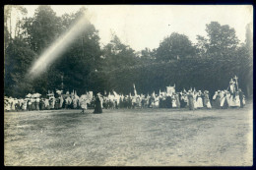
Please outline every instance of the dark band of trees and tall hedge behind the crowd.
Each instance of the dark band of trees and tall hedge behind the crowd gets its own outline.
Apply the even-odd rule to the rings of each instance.
[[[176,85],[177,90],[196,87],[217,90],[227,87],[238,76],[239,87],[252,94],[252,29],[246,27],[246,40],[239,42],[235,30],[218,22],[206,25],[207,36],[197,36],[193,44],[188,36],[172,32],[156,49],[136,52],[112,34],[109,43],[100,47],[94,25],[83,33],[35,80],[26,78],[32,63],[87,9],[61,17],[50,6],[39,6],[31,18],[11,26],[11,11],[27,13],[22,6],[7,6],[4,20],[4,93],[24,97],[29,92],[45,94],[48,90],[76,89],[78,94],[112,91],[123,94],[147,93]],[[15,27],[15,33],[12,28]],[[61,85],[63,78],[63,86]]]

